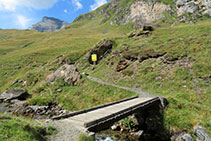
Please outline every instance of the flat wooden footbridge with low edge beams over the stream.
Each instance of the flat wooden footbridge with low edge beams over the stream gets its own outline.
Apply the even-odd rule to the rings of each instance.
[[[116,121],[160,103],[160,97],[133,97],[54,117],[53,119],[58,120],[65,118],[67,122],[75,123],[75,125],[93,132],[107,128]]]

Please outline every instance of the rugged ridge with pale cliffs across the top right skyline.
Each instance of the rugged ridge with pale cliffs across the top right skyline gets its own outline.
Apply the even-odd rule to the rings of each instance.
[[[190,22],[211,16],[210,1],[204,0],[111,0],[94,12],[81,15],[75,22],[98,19],[100,24],[130,25],[134,29],[144,25]]]

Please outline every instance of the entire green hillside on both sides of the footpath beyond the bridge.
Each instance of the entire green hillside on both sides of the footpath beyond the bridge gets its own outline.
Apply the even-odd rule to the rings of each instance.
[[[80,86],[68,86],[60,79],[54,84],[45,82],[66,58],[81,73],[165,96],[169,101],[165,125],[170,131],[187,130],[192,134],[195,125],[203,125],[211,134],[211,19],[173,27],[162,21],[163,26],[155,27],[151,35],[129,38],[131,25],[109,24],[116,18],[115,11],[110,10],[108,19],[100,14],[107,6],[88,13],[91,16],[78,17],[61,31],[0,30],[0,93],[20,87],[32,95],[30,104],[57,102],[72,111],[137,95],[92,82],[85,75]],[[104,38],[112,40],[114,47],[93,66],[86,54]],[[128,67],[118,72],[120,60],[125,60]],[[11,86],[17,79],[26,84]],[[63,91],[57,92],[58,88]]]

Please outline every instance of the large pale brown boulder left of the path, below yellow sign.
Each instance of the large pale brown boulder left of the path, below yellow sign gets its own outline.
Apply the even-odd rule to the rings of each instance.
[[[53,83],[57,78],[63,78],[69,85],[77,85],[82,78],[74,65],[65,64],[54,73],[47,76],[46,81]]]

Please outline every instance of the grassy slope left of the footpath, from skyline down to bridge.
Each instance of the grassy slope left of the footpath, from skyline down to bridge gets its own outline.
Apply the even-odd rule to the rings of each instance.
[[[57,56],[64,55],[74,63],[99,40],[122,36],[128,31],[126,27],[100,25],[98,19],[73,23],[65,30],[53,33],[0,30],[0,49],[4,50],[0,58],[0,91],[11,88],[11,82],[21,79],[27,82],[26,86],[16,84],[12,87],[26,88],[33,94],[30,103],[41,105],[54,101],[69,110],[84,109],[134,96],[135,93],[109,88],[86,78],[82,80],[83,89],[68,87],[61,81],[54,85],[43,82],[48,74],[61,66]],[[5,35],[10,38],[3,39]],[[58,93],[58,88],[62,88],[63,92]],[[78,104],[78,101],[83,102]]]

